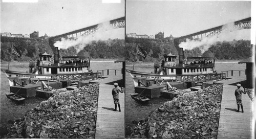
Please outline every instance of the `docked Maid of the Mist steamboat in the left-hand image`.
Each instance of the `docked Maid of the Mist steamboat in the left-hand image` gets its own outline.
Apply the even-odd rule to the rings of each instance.
[[[29,73],[4,70],[10,86],[14,82],[22,82],[26,80],[46,81],[56,79],[60,75],[76,75],[81,73],[92,73],[90,70],[90,56],[62,56],[59,58],[59,50],[55,47],[54,62],[52,55],[39,54],[36,62],[29,63]]]

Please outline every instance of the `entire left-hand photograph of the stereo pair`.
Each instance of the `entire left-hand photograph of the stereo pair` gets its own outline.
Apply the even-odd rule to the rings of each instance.
[[[1,1],[1,138],[124,138],[124,4]]]

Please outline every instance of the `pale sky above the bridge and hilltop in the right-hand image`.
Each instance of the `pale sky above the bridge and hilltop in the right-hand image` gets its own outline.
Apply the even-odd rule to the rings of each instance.
[[[143,8],[142,8],[143,7]],[[181,37],[251,16],[250,1],[126,1],[126,34]],[[250,40],[250,29],[230,39]]]

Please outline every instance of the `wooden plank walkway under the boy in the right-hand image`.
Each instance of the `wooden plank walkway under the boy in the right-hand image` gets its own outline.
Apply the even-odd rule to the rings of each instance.
[[[221,111],[219,120],[218,139],[220,138],[252,138],[253,137],[253,102],[247,94],[242,95],[244,113],[236,112],[237,103],[234,90],[237,88],[233,83],[244,79],[229,79],[220,81],[224,83]],[[230,85],[232,84],[232,85]]]

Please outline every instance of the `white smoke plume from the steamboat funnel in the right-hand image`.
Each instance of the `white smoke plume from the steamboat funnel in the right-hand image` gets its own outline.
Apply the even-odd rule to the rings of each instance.
[[[220,34],[216,34],[211,37],[203,37],[202,40],[190,40],[186,39],[186,41],[181,42],[179,44],[180,48],[184,50],[192,50],[194,48],[199,48],[201,50],[201,54],[207,51],[211,45],[215,44],[218,41],[231,41],[233,39],[241,39],[243,34],[240,32],[233,32],[238,29],[234,28],[234,22],[231,24],[224,25],[222,27],[222,32]]]

